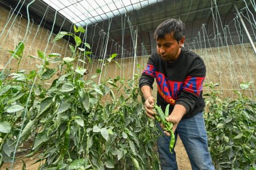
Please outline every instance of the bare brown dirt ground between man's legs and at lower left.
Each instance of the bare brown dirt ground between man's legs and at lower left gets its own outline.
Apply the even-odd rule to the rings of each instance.
[[[180,170],[190,170],[192,169],[191,168],[191,165],[189,163],[189,159],[188,159],[188,155],[187,155],[187,152],[185,151],[185,148],[183,146],[183,143],[181,142],[180,138],[177,138],[177,143],[176,143],[176,146],[175,146],[175,152],[176,152],[176,157],[177,157],[177,164],[178,164],[178,168]],[[26,169],[27,170],[36,170],[38,169],[40,163],[36,163],[36,164],[33,164],[35,162],[35,160],[33,160],[33,157],[26,157],[26,158],[23,158],[24,162],[26,163]],[[10,163],[6,163],[6,164],[3,164],[2,169],[6,169],[6,168],[9,168],[10,169]],[[16,163],[14,164],[14,167],[13,169],[14,170],[21,170],[22,169],[22,160],[16,160]]]

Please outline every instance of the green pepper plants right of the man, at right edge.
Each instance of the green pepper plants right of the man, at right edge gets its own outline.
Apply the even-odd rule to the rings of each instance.
[[[216,169],[256,168],[256,102],[245,96],[250,84],[240,85],[242,93],[234,91],[236,99],[221,99],[214,90],[218,84],[209,84],[212,92],[204,94],[209,150]]]

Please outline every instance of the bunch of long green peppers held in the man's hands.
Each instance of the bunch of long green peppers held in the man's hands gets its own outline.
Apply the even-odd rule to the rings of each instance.
[[[171,134],[169,150],[172,153],[172,149],[174,148],[174,143],[175,143],[175,135],[174,135],[174,131],[172,130],[172,122],[166,121],[166,118],[169,116],[169,107],[170,107],[170,105],[167,105],[166,111],[165,111],[165,113],[163,113],[163,110],[161,109],[161,107],[159,107],[158,105],[155,104],[155,109],[156,109],[156,113],[157,113],[155,115],[155,119],[156,119],[156,121],[163,123],[164,131],[167,131]]]

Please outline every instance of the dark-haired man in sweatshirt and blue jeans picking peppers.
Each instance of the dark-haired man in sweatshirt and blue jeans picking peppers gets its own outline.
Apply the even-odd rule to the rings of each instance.
[[[151,96],[154,79],[158,84],[157,105],[162,110],[170,103],[167,121],[173,123],[175,143],[177,134],[187,151],[192,169],[214,169],[208,151],[202,97],[205,65],[200,56],[185,50],[185,25],[177,19],[168,19],[155,30],[157,53],[148,59],[139,86],[142,90],[144,107],[148,117],[154,119],[155,99]],[[163,125],[156,122],[163,131]],[[169,151],[170,134],[164,131],[157,145],[161,169],[177,169],[175,151]]]

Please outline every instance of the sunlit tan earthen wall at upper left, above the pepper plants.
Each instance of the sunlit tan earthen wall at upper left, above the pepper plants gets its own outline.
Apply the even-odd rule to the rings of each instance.
[[[14,72],[16,71],[17,60],[12,59],[10,64],[6,65],[11,59],[11,55],[7,50],[14,50],[16,45],[24,39],[28,22],[24,16],[14,14],[7,23],[12,13],[1,6],[0,11],[0,34],[2,35],[0,36],[0,70],[6,68],[10,72]],[[46,30],[42,26],[30,21],[27,36],[24,39],[25,48],[19,70],[25,69],[26,71],[31,71],[36,69],[36,64],[40,64],[41,61],[31,59],[28,55],[38,56],[38,50],[46,51],[46,55],[55,52],[60,53],[61,57],[71,56],[68,41],[61,39],[53,43],[54,38],[55,34],[51,35],[51,30]],[[56,64],[51,64],[49,67],[54,68]]]

